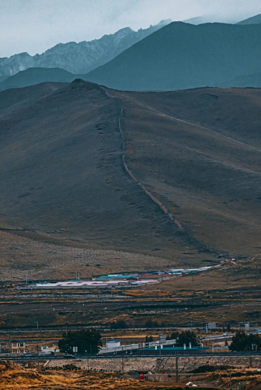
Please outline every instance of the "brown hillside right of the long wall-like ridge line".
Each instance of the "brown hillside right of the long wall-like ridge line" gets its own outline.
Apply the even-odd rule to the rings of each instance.
[[[258,253],[261,90],[115,94],[132,174],[194,238],[234,254]]]

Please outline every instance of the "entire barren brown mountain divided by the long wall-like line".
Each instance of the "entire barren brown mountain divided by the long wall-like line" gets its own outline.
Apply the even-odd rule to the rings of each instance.
[[[0,92],[2,229],[184,264],[260,251],[261,90],[58,86]]]

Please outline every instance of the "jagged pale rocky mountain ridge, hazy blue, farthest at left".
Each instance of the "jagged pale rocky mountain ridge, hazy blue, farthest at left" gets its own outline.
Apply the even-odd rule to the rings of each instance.
[[[115,34],[104,35],[101,39],[89,42],[59,43],[40,55],[19,53],[10,58],[0,58],[0,77],[12,76],[30,67],[59,67],[71,73],[87,73],[170,22],[171,20],[162,20],[155,26],[140,28],[138,31],[126,27]]]

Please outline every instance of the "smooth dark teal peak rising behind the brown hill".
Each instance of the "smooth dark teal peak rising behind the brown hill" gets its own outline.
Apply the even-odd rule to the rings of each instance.
[[[260,55],[261,25],[173,22],[87,77],[124,90],[216,86],[241,74],[261,71]]]

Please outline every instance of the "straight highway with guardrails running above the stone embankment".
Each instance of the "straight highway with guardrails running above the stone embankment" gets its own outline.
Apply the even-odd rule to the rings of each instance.
[[[99,354],[99,355],[55,355],[55,356],[1,356],[0,360],[13,360],[13,361],[24,361],[24,360],[79,360],[79,359],[126,359],[126,358],[193,358],[193,357],[261,357],[261,352],[183,352],[183,353],[117,353],[117,354]]]

